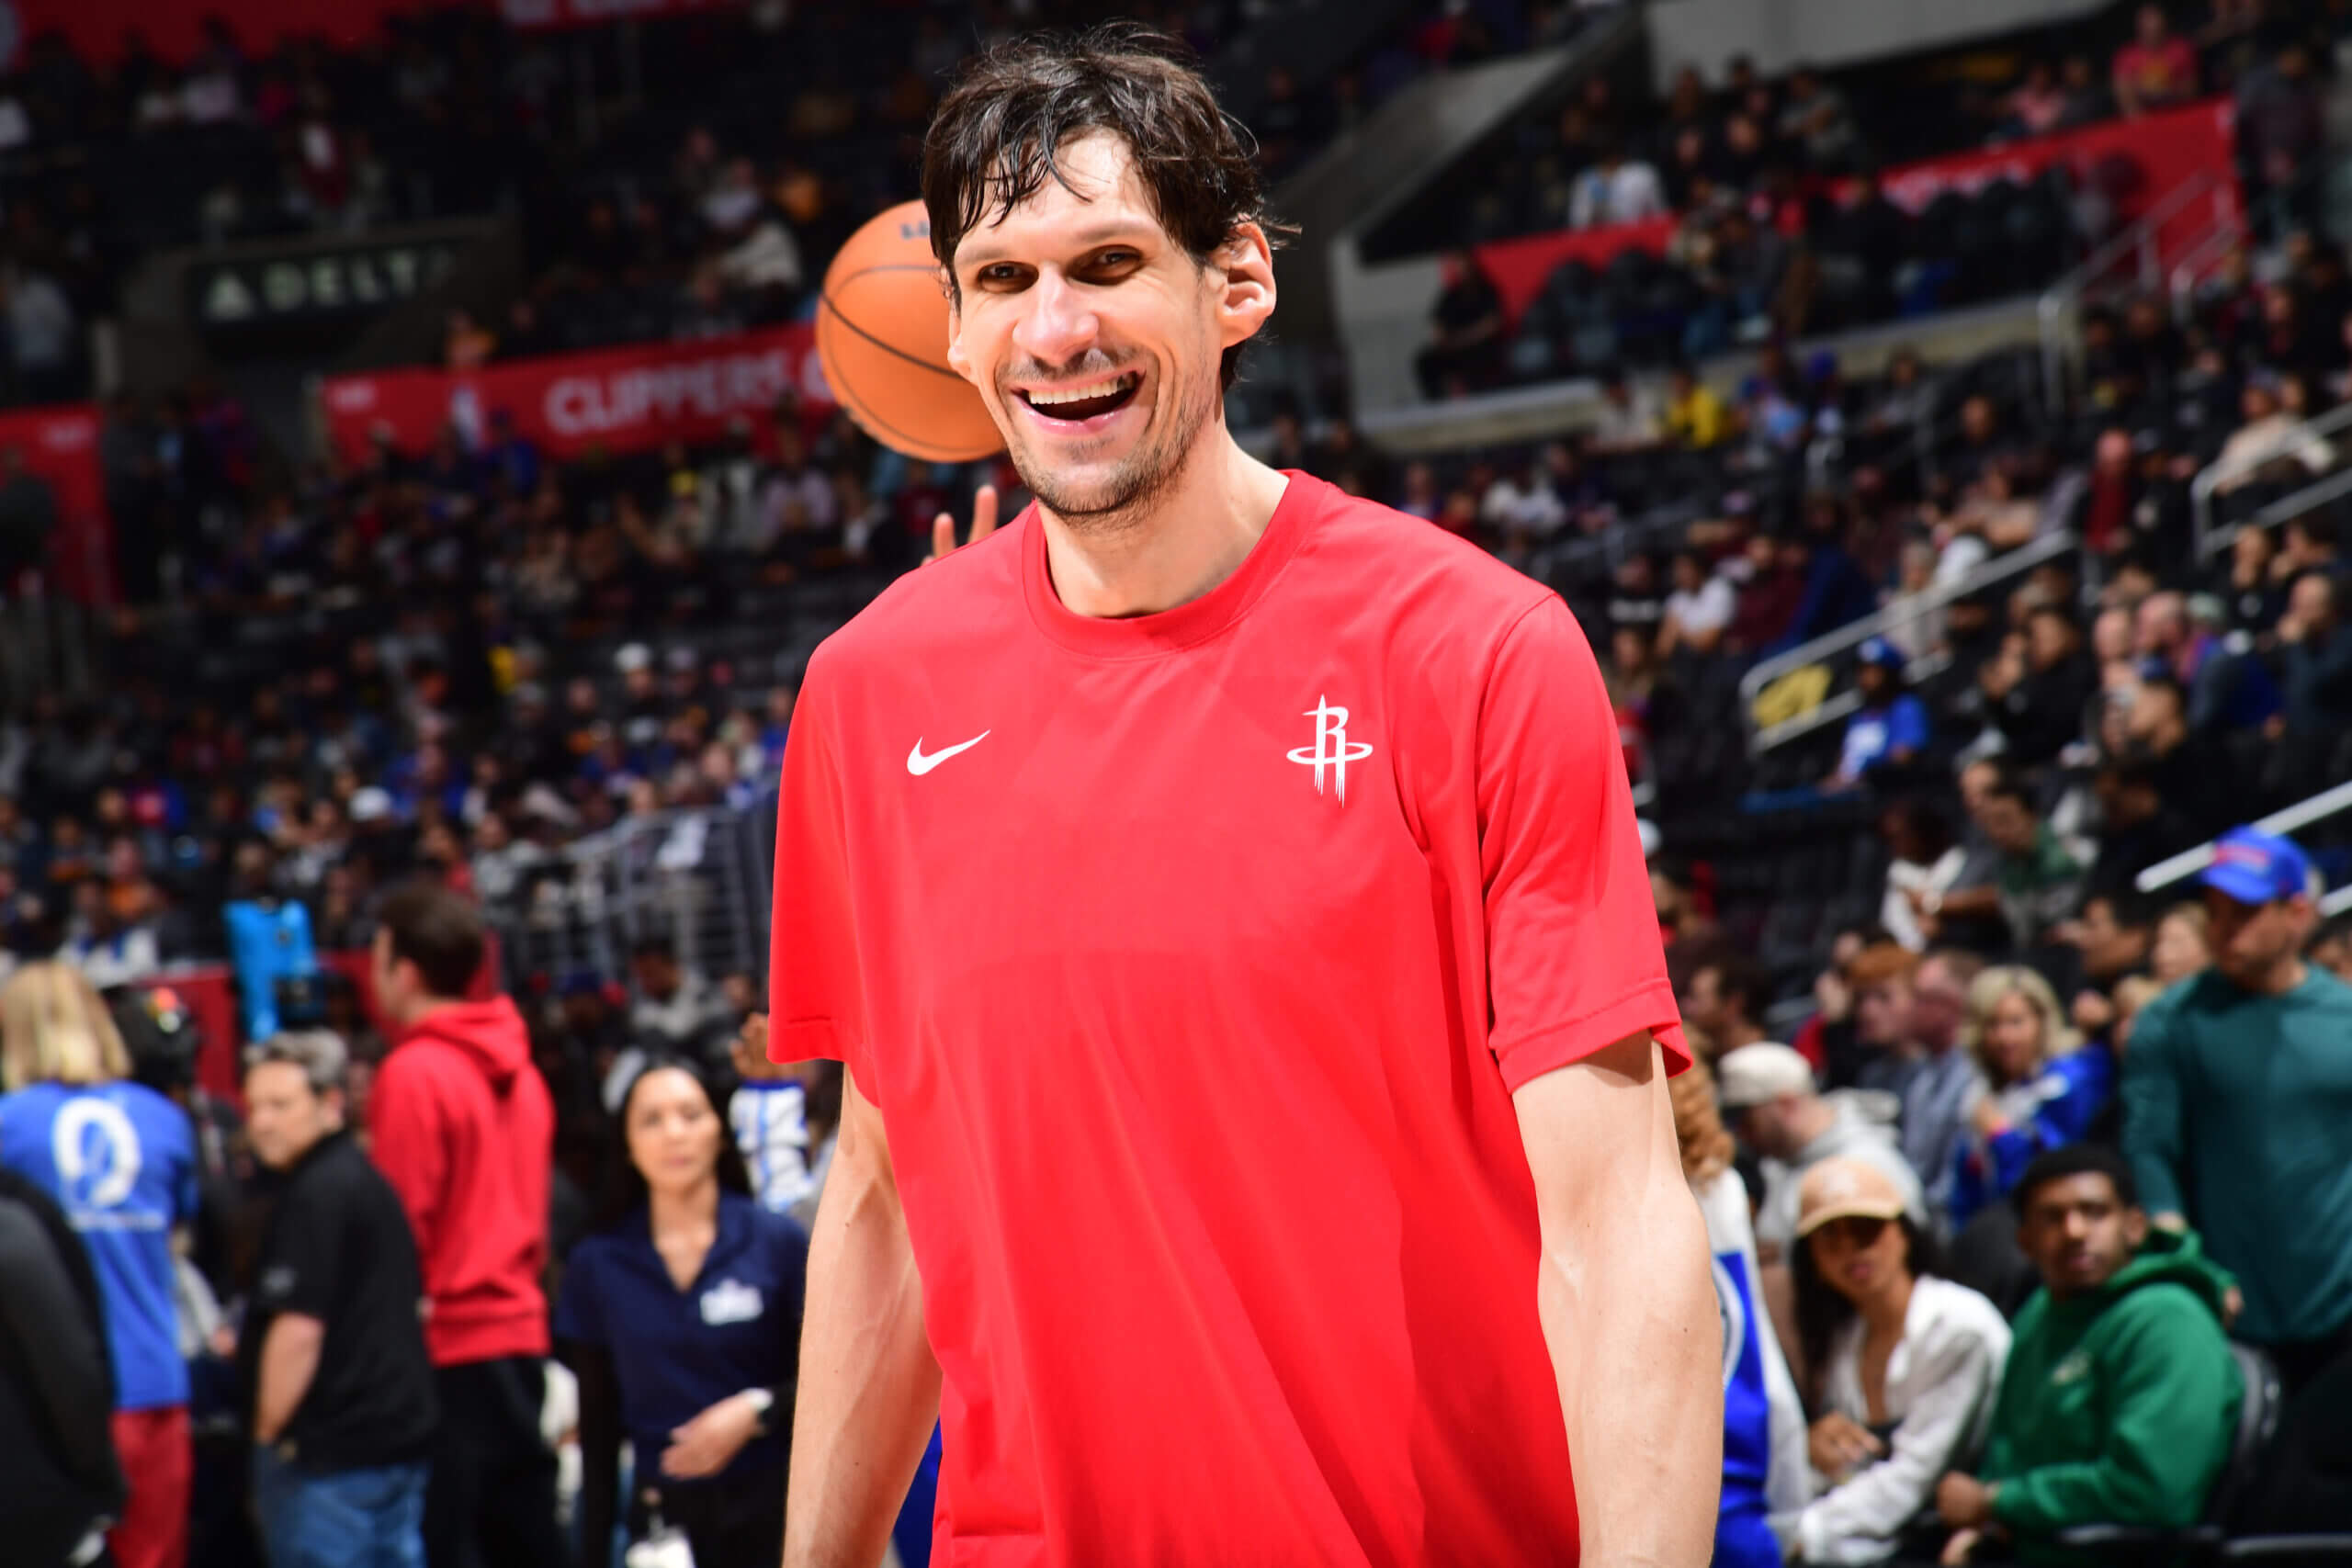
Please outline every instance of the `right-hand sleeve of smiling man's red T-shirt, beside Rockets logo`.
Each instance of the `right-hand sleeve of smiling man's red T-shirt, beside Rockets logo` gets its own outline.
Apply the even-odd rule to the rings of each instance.
[[[1489,1048],[1517,1091],[1649,1030],[1691,1063],[1609,691],[1548,595],[1503,635],[1479,710]]]

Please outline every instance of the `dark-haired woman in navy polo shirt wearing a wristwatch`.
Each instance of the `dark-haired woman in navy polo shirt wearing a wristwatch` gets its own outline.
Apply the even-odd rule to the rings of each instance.
[[[696,1067],[649,1063],[619,1128],[623,1157],[555,1307],[581,1382],[583,1561],[607,1561],[616,1516],[642,1537],[659,1514],[687,1533],[696,1568],[776,1568],[809,1239],[753,1201]]]

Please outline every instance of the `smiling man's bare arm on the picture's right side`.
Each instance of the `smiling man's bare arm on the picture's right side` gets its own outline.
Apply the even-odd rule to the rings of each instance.
[[[1583,1561],[1705,1568],[1724,1481],[1722,1309],[1658,1046],[1621,1039],[1515,1103]]]

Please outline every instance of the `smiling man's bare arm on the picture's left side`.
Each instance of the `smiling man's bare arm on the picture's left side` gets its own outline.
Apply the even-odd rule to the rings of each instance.
[[[938,1420],[938,1361],[882,1112],[842,1074],[842,1131],[809,1237],[786,1568],[873,1568]]]

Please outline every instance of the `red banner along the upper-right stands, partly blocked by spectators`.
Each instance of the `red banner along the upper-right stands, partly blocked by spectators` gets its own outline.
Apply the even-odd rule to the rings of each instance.
[[[2218,179],[2220,200],[2237,205],[2234,120],[2227,99],[2171,108],[2138,120],[2086,125],[2079,132],[2037,136],[1983,153],[1955,153],[1886,172],[1886,200],[1905,212],[1924,212],[1945,190],[1983,190],[1999,179],[2027,181],[2056,162],[2072,167],[2079,183],[2100,183],[2117,205],[2117,216],[2131,221],[2154,207],[2169,190],[2194,174]],[[1846,195],[1851,186],[1839,190]],[[2211,233],[2213,202],[2187,202],[2164,221],[2157,252],[2176,259]],[[1675,219],[1649,219],[1611,228],[1566,228],[1517,240],[1494,240],[1477,247],[1479,266],[1503,296],[1503,310],[1519,320],[1543,280],[1562,261],[1576,256],[1595,268],[1625,249],[1663,252],[1675,233]]]

